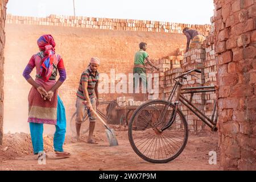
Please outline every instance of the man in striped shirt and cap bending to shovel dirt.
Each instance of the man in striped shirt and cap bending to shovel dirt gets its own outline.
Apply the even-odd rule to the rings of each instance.
[[[76,93],[76,138],[73,141],[78,141],[80,138],[81,123],[86,111],[89,115],[89,135],[87,142],[90,144],[97,144],[93,139],[93,131],[95,128],[96,115],[92,113],[92,109],[96,111],[96,107],[100,104],[98,100],[98,80],[99,73],[97,69],[100,67],[100,59],[92,57],[88,68],[82,72],[79,88]]]

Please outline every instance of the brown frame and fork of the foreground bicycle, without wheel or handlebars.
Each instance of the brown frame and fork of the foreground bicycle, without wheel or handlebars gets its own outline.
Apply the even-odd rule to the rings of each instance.
[[[172,89],[170,96],[168,97],[168,101],[171,103],[172,98],[174,97],[175,92],[177,92],[177,96],[175,98],[175,109],[172,111],[171,118],[166,126],[164,126],[160,131],[166,130],[168,127],[172,125],[172,123],[175,121],[176,113],[178,106],[180,102],[184,104],[189,110],[191,110],[197,117],[201,119],[207,126],[210,127],[212,131],[217,131],[217,118],[218,118],[218,113],[217,113],[217,101],[214,101],[214,106],[213,106],[213,113],[212,117],[208,118],[207,115],[202,113],[199,109],[197,109],[196,106],[194,106],[192,102],[193,94],[194,93],[205,93],[205,92],[215,92],[214,86],[198,86],[198,87],[191,87],[191,88],[182,88],[182,79],[179,78],[179,81],[175,80],[176,83],[174,85],[174,88]],[[206,89],[206,90],[205,90]],[[191,97],[189,100],[187,100],[183,94],[191,94]],[[163,109],[164,112],[166,112],[166,108]],[[216,117],[214,118],[214,115]]]

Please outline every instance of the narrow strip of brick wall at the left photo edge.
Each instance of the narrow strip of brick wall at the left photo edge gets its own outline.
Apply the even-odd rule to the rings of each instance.
[[[3,48],[5,47],[5,18],[7,0],[0,1],[0,145],[3,137]]]

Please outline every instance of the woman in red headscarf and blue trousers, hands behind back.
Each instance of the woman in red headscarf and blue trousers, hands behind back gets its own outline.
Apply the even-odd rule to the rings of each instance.
[[[32,85],[28,94],[28,122],[34,154],[44,155],[43,124],[56,126],[53,146],[56,156],[69,156],[63,151],[65,140],[65,107],[57,90],[66,78],[63,59],[55,53],[55,41],[51,35],[38,39],[40,52],[33,55],[23,71],[23,76]],[[36,78],[30,76],[36,67]],[[56,81],[59,71],[59,80]]]

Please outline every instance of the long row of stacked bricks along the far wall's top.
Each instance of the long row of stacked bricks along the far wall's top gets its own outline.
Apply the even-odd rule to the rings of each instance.
[[[133,19],[111,19],[111,18],[92,18],[85,16],[63,16],[49,15],[46,18],[36,18],[31,16],[14,16],[7,14],[7,23],[16,24],[37,24],[46,26],[62,27],[82,27],[107,30],[126,30],[126,31],[148,31],[148,32],[174,32],[182,33],[183,28],[190,27],[199,30],[204,35],[208,35],[209,24],[184,24],[159,22],[151,20]]]

